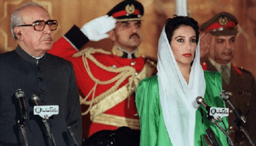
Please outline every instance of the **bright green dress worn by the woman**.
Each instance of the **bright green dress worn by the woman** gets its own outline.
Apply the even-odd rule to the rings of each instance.
[[[222,90],[221,74],[204,71],[204,79],[206,82],[205,102],[211,107],[226,107],[224,101],[220,98],[220,91]],[[139,83],[136,91],[136,106],[140,116],[140,146],[172,146],[162,115],[157,75],[145,78]],[[203,134],[206,134],[206,129],[209,127],[212,128],[219,144],[228,146],[226,135],[206,118],[206,114],[205,108],[200,105],[196,110],[194,146],[207,146]],[[222,119],[228,128],[227,117]],[[222,122],[219,122],[219,124],[225,129]]]

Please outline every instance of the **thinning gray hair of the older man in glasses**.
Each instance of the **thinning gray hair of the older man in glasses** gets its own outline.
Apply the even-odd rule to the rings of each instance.
[[[25,8],[27,6],[39,6],[39,7],[43,8],[42,6],[40,6],[39,4],[37,4],[35,2],[29,2],[29,3],[26,3],[26,4],[22,5],[20,8],[14,10],[14,12],[12,12],[12,16],[11,16],[11,32],[12,32],[12,36],[14,37],[14,39],[17,39],[17,37],[14,34],[14,28],[16,26],[20,26],[20,25],[24,24],[21,12],[23,10],[25,10]]]

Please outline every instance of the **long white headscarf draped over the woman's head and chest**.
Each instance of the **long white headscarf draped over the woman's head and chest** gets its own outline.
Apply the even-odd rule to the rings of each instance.
[[[158,83],[164,124],[173,146],[194,146],[195,99],[204,97],[204,71],[200,65],[199,42],[187,84],[168,42],[165,26],[158,42]]]

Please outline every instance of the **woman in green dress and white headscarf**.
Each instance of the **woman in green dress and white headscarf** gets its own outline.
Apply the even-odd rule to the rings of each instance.
[[[202,70],[198,41],[193,18],[166,21],[158,44],[158,73],[143,79],[136,91],[141,146],[207,146],[203,139],[207,128],[212,128],[221,146],[228,146],[226,136],[195,101],[201,96],[209,106],[225,107],[219,97],[221,75]],[[222,119],[228,127],[227,118]]]

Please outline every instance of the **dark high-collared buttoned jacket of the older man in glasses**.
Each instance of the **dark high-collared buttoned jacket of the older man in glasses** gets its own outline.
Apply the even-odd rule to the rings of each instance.
[[[59,114],[48,119],[57,146],[74,145],[68,126],[74,129],[78,143],[82,142],[80,102],[72,63],[48,53],[35,59],[18,46],[0,55],[0,146],[24,145],[17,124],[17,89],[26,95],[28,119],[24,125],[29,146],[53,145],[42,118],[33,114],[33,94],[40,96],[42,105],[59,106]]]

